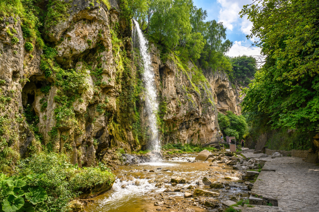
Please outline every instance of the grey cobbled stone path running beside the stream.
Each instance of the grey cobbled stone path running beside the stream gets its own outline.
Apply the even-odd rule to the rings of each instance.
[[[255,157],[258,154],[249,154]],[[246,155],[245,155],[246,156]],[[247,155],[248,156],[248,155]],[[319,211],[319,166],[301,158],[267,158],[251,193],[263,199],[277,201],[278,207],[244,207],[243,212],[318,212]],[[272,171],[271,171],[272,170]]]

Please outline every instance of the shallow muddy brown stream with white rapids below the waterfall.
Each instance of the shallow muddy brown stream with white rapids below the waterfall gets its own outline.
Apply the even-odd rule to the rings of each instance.
[[[239,178],[242,172],[233,170],[232,166],[223,163],[219,164],[219,167],[211,167],[209,166],[211,163],[205,161],[189,162],[194,161],[195,157],[195,154],[186,154],[163,160],[161,163],[120,166],[113,171],[116,180],[111,190],[92,198],[94,202],[88,203],[85,211],[218,211],[222,207],[223,201],[231,198],[248,197],[246,185]],[[186,183],[172,186],[170,183],[172,176],[185,178]],[[226,176],[232,179],[226,180]],[[230,188],[211,189],[209,186],[201,185],[202,183],[198,185],[198,181],[202,182],[203,177],[207,177],[212,182],[221,182],[226,186],[228,183]],[[157,188],[155,187],[157,182],[163,182],[164,184]],[[199,197],[197,200],[184,198],[185,191],[190,193],[194,191],[194,189],[188,189],[189,185],[220,193],[220,196],[217,198]],[[181,188],[181,191],[164,192],[167,188]],[[219,207],[215,209],[206,208],[200,204],[203,202],[198,202],[199,200],[217,201]],[[158,201],[165,203],[155,206],[154,202]]]

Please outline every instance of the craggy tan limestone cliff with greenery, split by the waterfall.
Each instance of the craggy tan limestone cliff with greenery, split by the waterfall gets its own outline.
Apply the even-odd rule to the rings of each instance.
[[[67,12],[57,23],[47,15],[42,48],[33,41],[26,49],[19,17],[0,21],[0,150],[12,147],[27,157],[47,148],[81,167],[94,166],[109,148],[145,149],[143,70],[130,20],[122,19],[116,1],[53,3],[39,6],[55,10],[61,3]],[[218,111],[240,114],[240,90],[225,73],[150,49],[163,142],[201,142],[218,133]]]

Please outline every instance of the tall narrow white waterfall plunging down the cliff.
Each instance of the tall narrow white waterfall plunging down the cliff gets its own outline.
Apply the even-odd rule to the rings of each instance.
[[[143,33],[139,27],[137,21],[133,20],[135,27],[133,27],[132,39],[134,44],[137,44],[140,50],[140,54],[143,60],[144,72],[143,72],[143,82],[145,85],[145,106],[148,115],[149,126],[151,130],[151,146],[154,150],[160,151],[160,142],[157,129],[157,111],[158,111],[158,101],[156,98],[156,89],[154,85],[154,73],[151,62],[151,56],[148,52],[147,46],[148,42],[143,36]],[[154,154],[152,158],[153,162],[158,162],[158,154]]]

